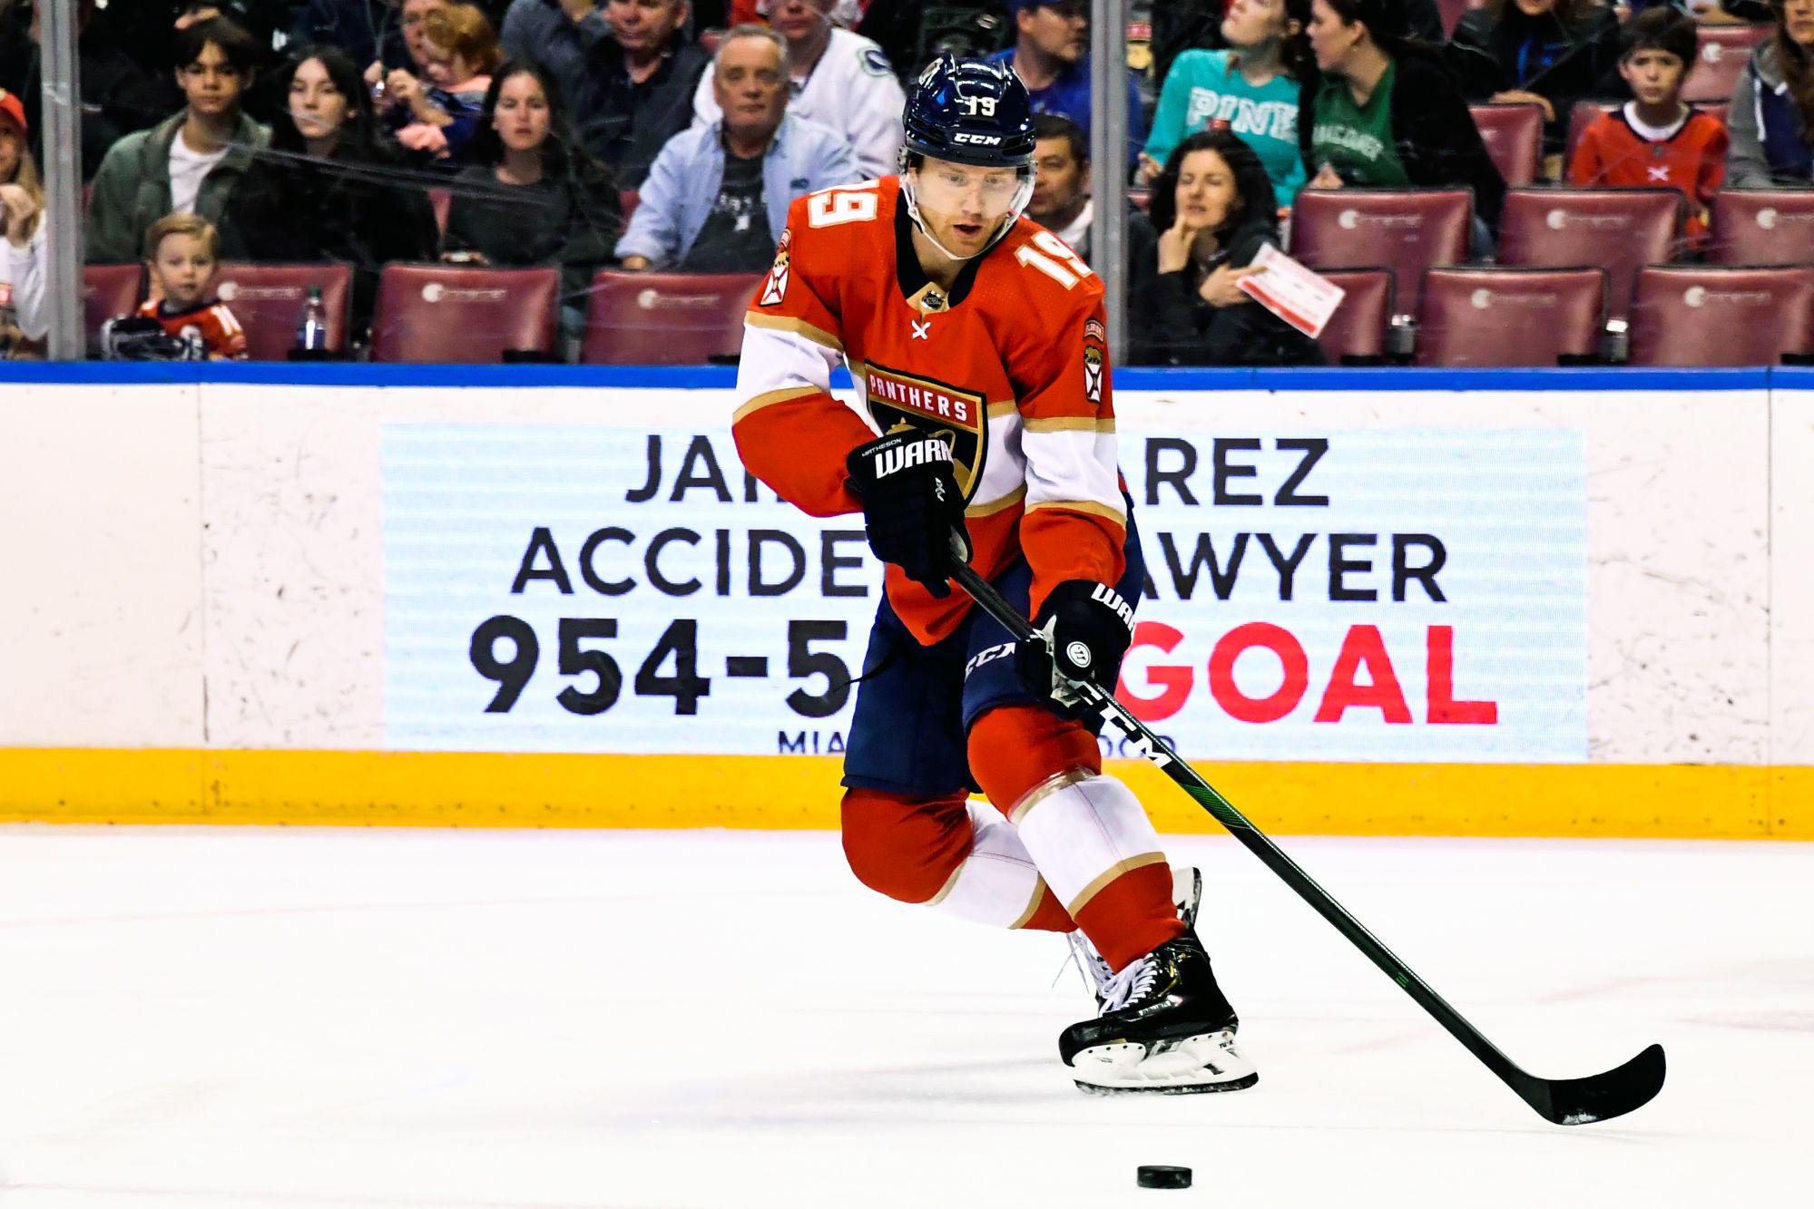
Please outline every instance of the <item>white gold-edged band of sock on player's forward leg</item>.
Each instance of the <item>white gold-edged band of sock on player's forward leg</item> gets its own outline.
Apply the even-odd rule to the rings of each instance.
[[[1121,874],[1165,861],[1159,832],[1134,792],[1087,769],[1034,787],[1009,817],[1072,919]]]

